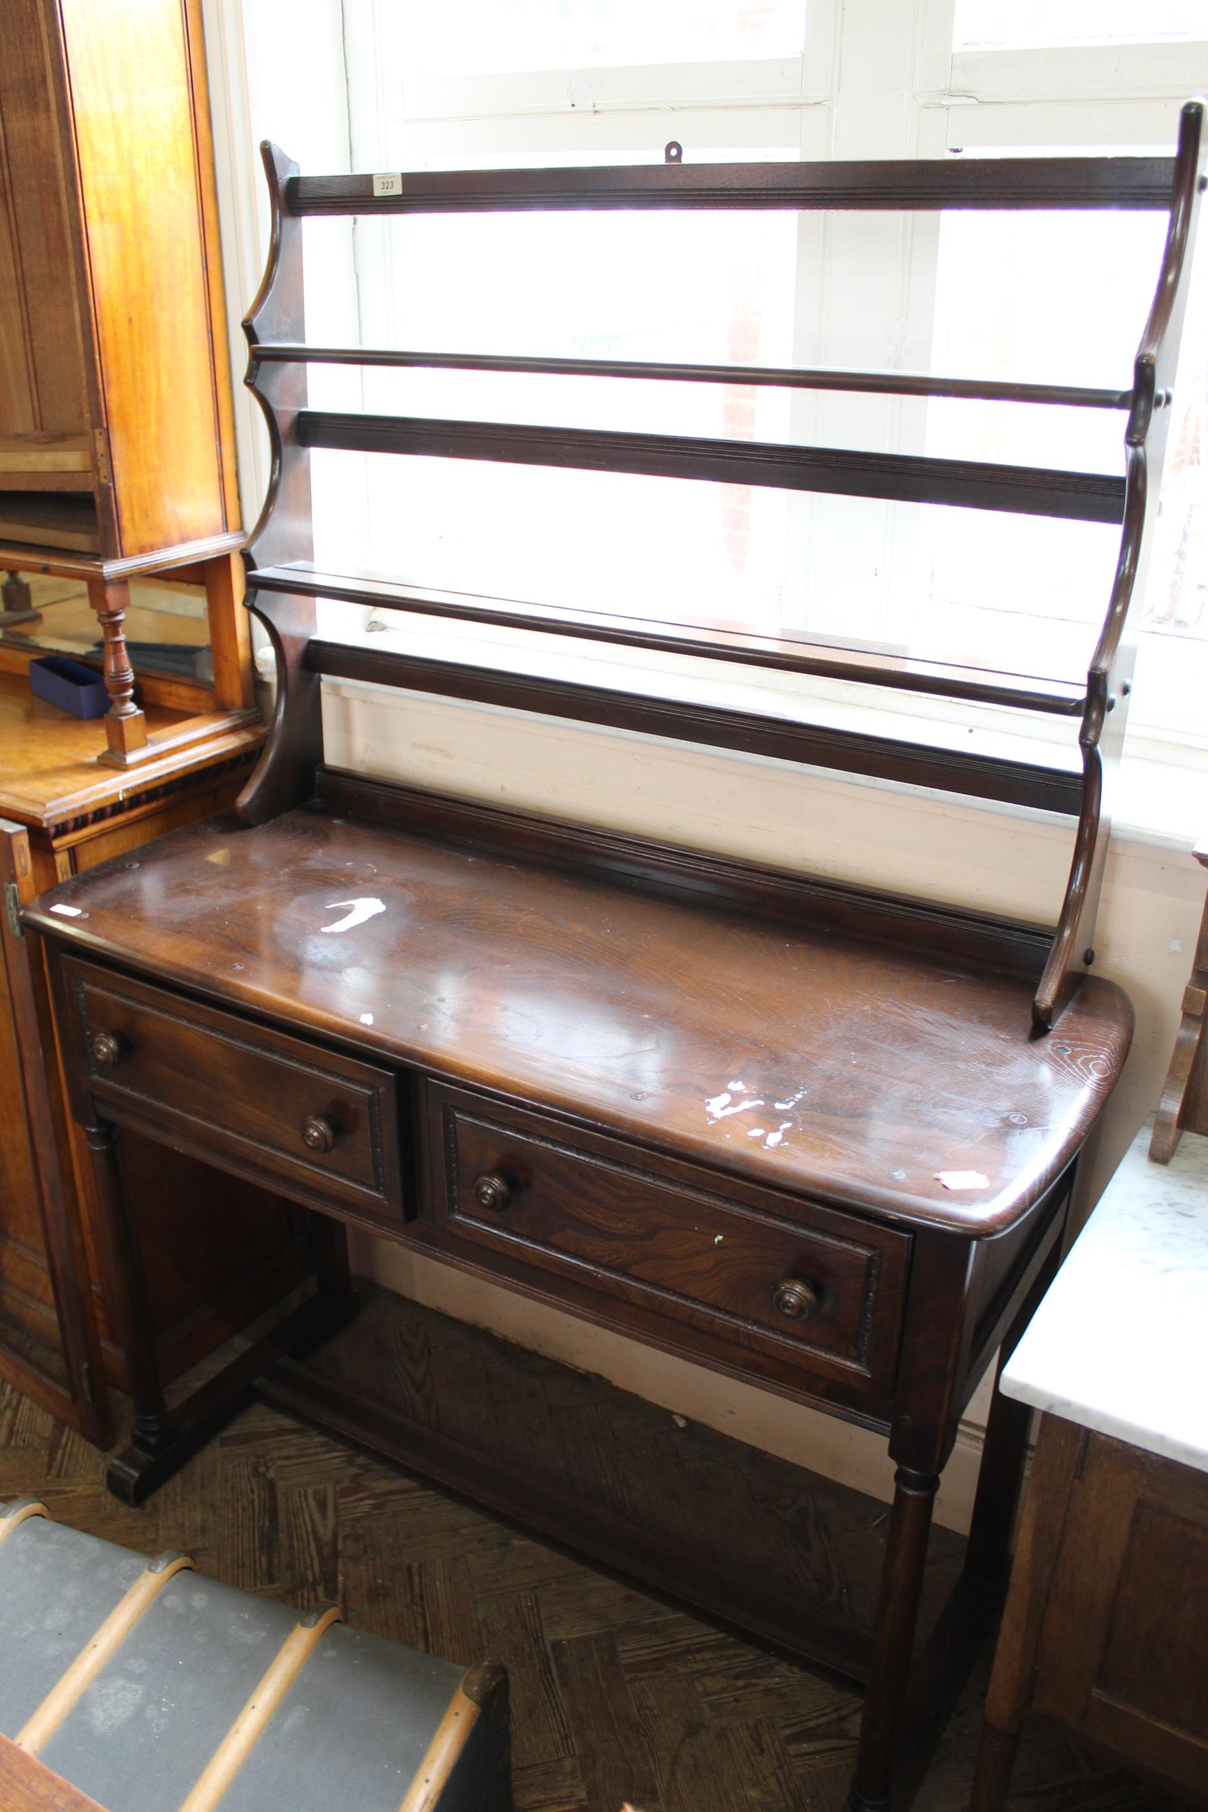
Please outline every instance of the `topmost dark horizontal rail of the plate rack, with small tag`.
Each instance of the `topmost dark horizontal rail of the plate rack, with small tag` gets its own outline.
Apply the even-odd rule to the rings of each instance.
[[[925,158],[674,163],[569,170],[293,176],[290,214],[487,214],[525,208],[1168,208],[1172,158]]]

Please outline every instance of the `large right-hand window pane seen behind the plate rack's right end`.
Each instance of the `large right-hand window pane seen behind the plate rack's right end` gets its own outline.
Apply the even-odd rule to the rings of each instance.
[[[936,277],[935,362],[951,375],[1110,384],[1128,390],[1150,308],[1165,216],[945,214]],[[1204,737],[1208,689],[1208,259],[1188,295],[1161,513],[1148,583],[1134,600],[1137,678],[1130,721]],[[933,402],[927,453],[951,453],[964,410],[964,457],[1123,471],[1125,417]],[[1117,542],[1117,531],[1107,531]],[[927,511],[931,623],[938,640],[973,640],[980,660],[1074,678],[1103,622],[1110,569],[1087,558],[1072,524]],[[1043,585],[1027,574],[1043,574]],[[1025,580],[1021,583],[1021,578]]]

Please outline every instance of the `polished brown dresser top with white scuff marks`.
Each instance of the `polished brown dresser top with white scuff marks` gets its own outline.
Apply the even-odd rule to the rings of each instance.
[[[1031,978],[670,901],[317,810],[188,826],[62,882],[80,953],[837,1205],[996,1232],[1059,1174],[1130,1040]]]

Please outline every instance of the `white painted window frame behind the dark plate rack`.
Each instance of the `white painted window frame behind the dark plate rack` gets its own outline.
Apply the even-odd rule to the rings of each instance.
[[[377,89],[360,85],[350,98],[348,69],[382,67],[373,45],[380,43],[391,4],[203,0],[237,373],[244,366],[237,323],[259,283],[266,237],[257,127],[272,129],[286,149],[304,141],[315,167],[319,161],[328,170],[384,167],[380,83]],[[1208,42],[953,54],[951,16],[953,0],[811,0],[801,58],[427,82],[413,85],[407,114],[429,154],[440,158],[444,152],[446,161],[451,145],[503,152],[531,143],[538,118],[545,138],[563,149],[663,143],[676,136],[703,147],[784,145],[806,158],[893,158],[980,147],[1161,143],[1170,134],[1172,105],[1192,87],[1208,89]],[[826,230],[842,234],[842,217],[831,217]],[[935,259],[927,234],[935,232],[935,223],[916,217],[913,230],[922,241],[920,255],[907,250],[902,294],[882,303],[895,315],[909,306],[920,323],[929,323],[927,274]],[[308,268],[312,337],[315,321],[359,319],[355,290],[357,283],[373,281],[373,236],[364,236],[368,243],[353,257],[353,232],[348,223],[342,268],[333,259],[315,272]],[[826,259],[826,310],[868,306],[844,259]],[[348,382],[348,373],[342,379]],[[802,408],[811,406],[808,399],[802,402]],[[886,399],[882,413],[886,444],[902,446],[902,404]],[[246,393],[239,395],[237,451],[244,516],[252,522],[264,495],[268,460],[259,411]],[[350,467],[340,507],[355,511],[364,507],[364,493],[355,462]],[[581,651],[569,651],[551,636],[407,620],[407,645],[426,652],[456,654],[467,638],[473,638],[476,660],[514,663],[520,658],[543,672],[569,672],[581,661]],[[603,685],[657,687],[790,716],[808,716],[820,707],[828,716],[868,723],[875,714],[875,728],[882,734],[918,730],[987,750],[1011,747],[1021,736],[1045,741],[1054,734],[1047,723],[1002,710],[971,716],[942,701],[802,685],[801,676],[733,670],[645,651],[594,649],[590,663],[592,680]],[[869,696],[862,696],[864,690]],[[1186,803],[1175,801],[1174,814],[1183,819],[1195,810],[1194,799],[1208,777],[1208,750],[1130,736],[1128,754],[1148,759],[1137,777],[1137,805],[1127,817],[1150,819],[1154,761],[1165,763],[1161,786],[1174,779],[1183,788]]]

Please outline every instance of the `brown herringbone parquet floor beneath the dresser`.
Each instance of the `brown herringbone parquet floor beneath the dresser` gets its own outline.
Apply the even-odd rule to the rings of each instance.
[[[654,1464],[634,1453],[634,1466]],[[257,1404],[143,1509],[103,1459],[0,1388],[0,1499],[36,1491],[63,1522],[145,1553],[179,1547],[232,1586],[335,1600],[382,1636],[513,1680],[518,1812],[839,1812],[858,1696],[688,1616]],[[699,1506],[685,1504],[685,1517]],[[2,1629],[2,1609],[0,1609]],[[974,1682],[918,1799],[967,1803]],[[1014,1812],[1165,1812],[1056,1732],[1025,1736]],[[288,1812],[288,1808],[283,1808]]]

